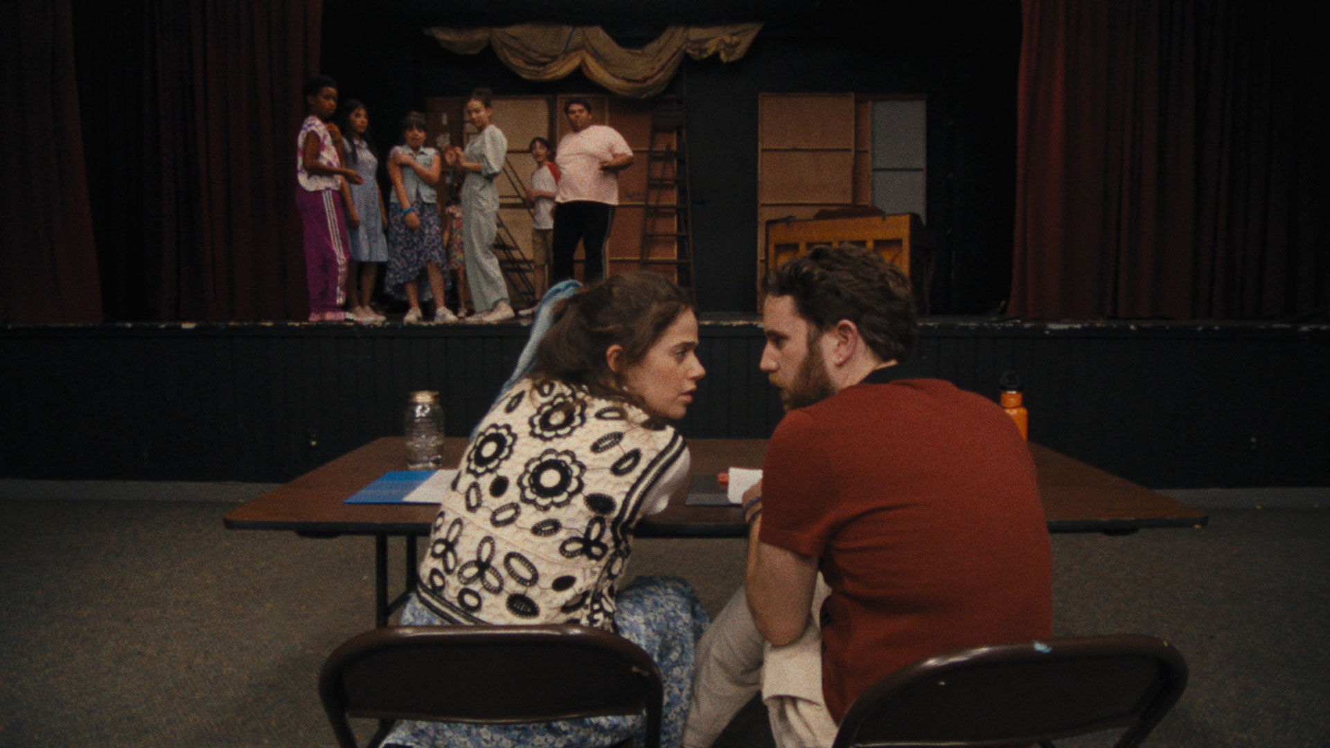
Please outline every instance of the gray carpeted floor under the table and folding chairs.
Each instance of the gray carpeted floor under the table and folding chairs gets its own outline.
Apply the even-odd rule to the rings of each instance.
[[[0,747],[332,745],[315,681],[372,626],[372,540],[225,530],[261,486],[20,487],[0,482]],[[1330,748],[1330,508],[1053,551],[1057,634],[1153,634],[1190,664],[1146,745]],[[640,540],[632,570],[714,614],[741,564],[738,540]],[[769,745],[761,712],[722,744]]]

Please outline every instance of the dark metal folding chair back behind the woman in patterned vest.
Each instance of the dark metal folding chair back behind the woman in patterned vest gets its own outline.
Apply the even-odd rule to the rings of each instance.
[[[354,636],[323,664],[319,697],[338,745],[348,717],[528,723],[646,712],[660,747],[660,668],[632,642],[583,626],[396,626]]]

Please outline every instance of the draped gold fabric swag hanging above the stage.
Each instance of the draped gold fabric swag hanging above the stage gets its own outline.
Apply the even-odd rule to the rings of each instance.
[[[718,55],[722,63],[730,63],[747,52],[761,28],[762,24],[669,27],[641,49],[620,47],[600,27],[432,27],[424,33],[458,55],[475,55],[488,44],[527,80],[557,80],[581,68],[588,79],[613,93],[646,98],[665,89],[685,53],[694,60]]]

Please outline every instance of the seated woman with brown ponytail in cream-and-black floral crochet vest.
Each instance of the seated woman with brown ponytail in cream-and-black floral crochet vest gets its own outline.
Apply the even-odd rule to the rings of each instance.
[[[705,374],[697,317],[660,276],[614,276],[561,302],[531,375],[480,421],[439,507],[400,623],[580,623],[617,631],[665,677],[678,745],[706,612],[680,579],[622,590],[638,518],[689,476],[682,418]],[[557,687],[557,672],[549,673]],[[519,725],[400,723],[384,745],[613,745],[640,717]]]

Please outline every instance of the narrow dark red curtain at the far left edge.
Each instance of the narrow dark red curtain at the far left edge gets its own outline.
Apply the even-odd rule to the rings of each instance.
[[[69,1],[0,3],[0,322],[100,322]]]

